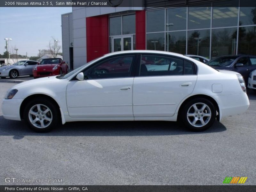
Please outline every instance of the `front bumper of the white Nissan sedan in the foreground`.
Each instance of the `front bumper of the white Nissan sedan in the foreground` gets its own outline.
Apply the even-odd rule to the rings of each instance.
[[[4,99],[2,112],[5,119],[20,121],[20,105],[23,99]]]

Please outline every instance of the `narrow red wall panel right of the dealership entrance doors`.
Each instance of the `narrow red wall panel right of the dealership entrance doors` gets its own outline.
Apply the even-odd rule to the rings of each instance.
[[[146,11],[136,11],[136,49],[146,49]]]

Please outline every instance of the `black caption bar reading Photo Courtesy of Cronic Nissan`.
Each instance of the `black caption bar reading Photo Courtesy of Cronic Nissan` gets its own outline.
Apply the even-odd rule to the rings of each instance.
[[[84,186],[71,186],[71,185],[8,185],[0,186],[1,192],[254,192],[256,186],[250,185],[221,185],[221,186],[103,186],[103,185],[84,185]]]

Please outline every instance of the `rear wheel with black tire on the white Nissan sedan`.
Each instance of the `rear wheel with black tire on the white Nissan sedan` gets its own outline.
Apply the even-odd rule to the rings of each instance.
[[[204,104],[207,107],[204,108]],[[195,108],[197,108],[197,110]],[[188,101],[181,108],[179,117],[180,123],[185,125],[189,130],[201,132],[211,127],[214,123],[216,119],[216,109],[210,100],[195,98]],[[203,122],[205,124],[203,124]]]

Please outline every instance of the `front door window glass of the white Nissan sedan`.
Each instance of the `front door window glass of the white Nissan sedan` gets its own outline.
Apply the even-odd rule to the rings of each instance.
[[[129,77],[133,60],[133,55],[103,59],[103,61],[83,71],[84,79]]]

